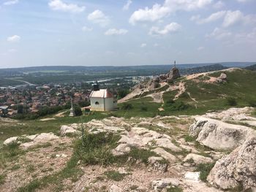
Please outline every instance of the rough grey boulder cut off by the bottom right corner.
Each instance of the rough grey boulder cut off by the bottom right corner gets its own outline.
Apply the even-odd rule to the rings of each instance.
[[[256,137],[246,139],[230,155],[219,159],[207,180],[222,189],[243,185],[256,191]]]

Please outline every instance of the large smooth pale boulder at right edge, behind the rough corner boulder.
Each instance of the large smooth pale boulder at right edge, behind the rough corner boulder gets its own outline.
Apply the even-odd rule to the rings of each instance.
[[[189,127],[189,134],[197,137],[202,145],[214,150],[233,150],[243,144],[246,138],[256,135],[252,128],[224,123],[210,118],[195,118]]]

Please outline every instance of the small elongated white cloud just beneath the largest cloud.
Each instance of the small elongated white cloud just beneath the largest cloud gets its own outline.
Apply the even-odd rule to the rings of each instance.
[[[176,31],[178,31],[180,28],[181,28],[181,25],[179,25],[178,23],[170,23],[167,26],[165,26],[163,29],[159,29],[159,27],[153,26],[150,29],[149,34],[165,35],[165,34],[169,34],[169,33],[174,33]]]

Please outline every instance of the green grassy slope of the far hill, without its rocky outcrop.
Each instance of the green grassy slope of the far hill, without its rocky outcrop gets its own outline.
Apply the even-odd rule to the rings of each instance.
[[[227,82],[206,82],[210,77],[219,77],[221,72],[214,72],[194,80],[182,77],[177,80],[184,82],[186,91],[175,101],[178,91],[168,91],[163,94],[164,104],[157,104],[151,98],[140,98],[120,104],[121,110],[115,112],[118,116],[148,116],[152,115],[200,115],[208,110],[224,110],[230,107],[256,106],[256,72],[245,69],[227,71]],[[132,105],[126,110],[124,105]],[[165,111],[159,111],[162,107]]]

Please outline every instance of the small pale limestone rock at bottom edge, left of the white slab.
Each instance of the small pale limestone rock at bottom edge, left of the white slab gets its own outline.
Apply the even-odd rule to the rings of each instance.
[[[151,182],[151,188],[154,191],[162,191],[163,188],[166,188],[167,186],[175,186],[177,187],[179,185],[179,181],[175,178],[164,178],[159,180],[153,180]]]

